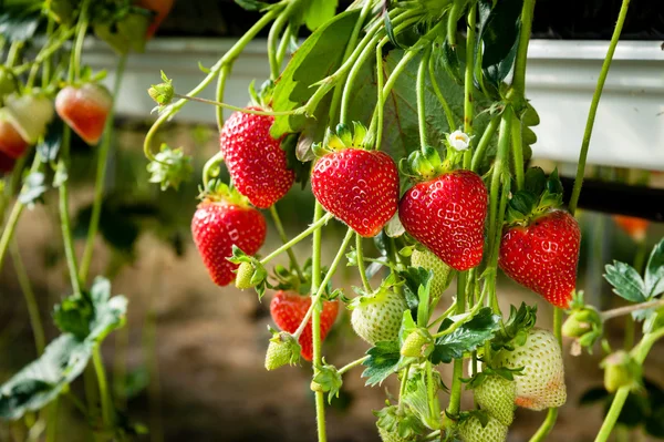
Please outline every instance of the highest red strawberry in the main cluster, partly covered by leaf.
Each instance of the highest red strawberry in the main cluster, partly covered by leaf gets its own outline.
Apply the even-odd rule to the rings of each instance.
[[[235,187],[260,208],[268,208],[281,199],[295,179],[295,174],[287,166],[281,140],[270,136],[273,122],[273,116],[236,112],[224,124],[219,137]]]

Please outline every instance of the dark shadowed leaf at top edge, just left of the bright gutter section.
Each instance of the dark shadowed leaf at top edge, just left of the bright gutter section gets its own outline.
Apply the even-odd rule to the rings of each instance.
[[[491,1],[480,0],[478,4],[481,70],[485,79],[498,90],[515,64],[523,0],[498,1],[488,14]]]

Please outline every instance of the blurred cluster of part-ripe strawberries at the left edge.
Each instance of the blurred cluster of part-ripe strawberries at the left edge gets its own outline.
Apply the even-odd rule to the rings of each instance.
[[[113,97],[104,86],[87,82],[60,90],[54,106],[40,91],[11,93],[3,102],[0,107],[0,172],[8,173],[28,147],[46,134],[55,112],[83,141],[97,144]]]

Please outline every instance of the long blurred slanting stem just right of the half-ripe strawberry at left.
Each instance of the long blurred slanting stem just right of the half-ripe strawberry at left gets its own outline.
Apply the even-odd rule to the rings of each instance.
[[[92,203],[92,214],[90,216],[90,227],[87,229],[87,238],[85,240],[85,248],[83,249],[83,257],[81,258],[81,267],[79,268],[79,279],[85,282],[90,271],[90,265],[92,264],[92,253],[94,251],[94,239],[96,237],[100,219],[102,217],[102,205],[104,196],[104,182],[106,181],[106,163],[108,162],[108,152],[111,151],[111,140],[113,137],[113,125],[115,116],[115,104],[120,88],[122,84],[122,78],[124,75],[124,69],[126,65],[127,55],[121,55],[117,62],[117,69],[115,70],[115,80],[113,84],[113,105],[106,116],[106,124],[104,125],[104,138],[100,145],[97,153],[97,165],[96,165],[96,178],[94,183],[94,199]]]

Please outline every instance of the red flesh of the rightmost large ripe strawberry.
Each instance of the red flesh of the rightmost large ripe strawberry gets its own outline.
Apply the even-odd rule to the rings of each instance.
[[[528,226],[506,228],[498,265],[515,281],[567,308],[577,287],[581,230],[573,216],[553,210]]]

